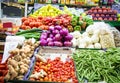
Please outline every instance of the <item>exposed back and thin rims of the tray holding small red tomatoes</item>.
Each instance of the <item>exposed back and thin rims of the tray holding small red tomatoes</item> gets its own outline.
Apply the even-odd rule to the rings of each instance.
[[[47,59],[54,60],[55,58],[60,57],[61,61],[63,61],[64,63],[67,60],[69,61],[69,58],[67,57],[68,56],[71,57],[71,55],[73,54],[73,51],[72,51],[73,49],[72,50],[71,49],[72,48],[68,48],[68,47],[61,47],[61,48],[59,47],[38,47],[37,51],[38,51],[38,54],[40,54],[46,60]],[[32,72],[34,71],[36,62],[34,63],[34,66],[30,74],[32,74]],[[75,76],[77,77],[75,63],[73,62],[73,64],[74,64],[74,69],[75,69]],[[33,81],[29,81],[29,82],[34,83]],[[66,82],[36,82],[36,83],[66,83]],[[69,83],[72,83],[72,82],[69,82]]]

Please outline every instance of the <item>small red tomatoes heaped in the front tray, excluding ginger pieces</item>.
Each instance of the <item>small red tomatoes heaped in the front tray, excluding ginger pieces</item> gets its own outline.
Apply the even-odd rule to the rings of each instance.
[[[47,76],[38,79],[30,78],[30,80],[45,82],[71,82],[70,80],[72,80],[72,83],[78,83],[74,62],[71,58],[65,62],[61,61],[60,57],[56,57],[54,60],[48,59],[47,63],[37,60],[33,73],[39,72],[41,69],[47,73]]]

